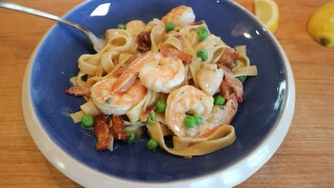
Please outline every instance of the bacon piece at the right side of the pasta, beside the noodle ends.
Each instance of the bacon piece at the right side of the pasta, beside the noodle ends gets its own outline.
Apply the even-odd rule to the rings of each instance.
[[[223,66],[224,78],[221,82],[221,95],[225,99],[230,99],[231,95],[234,94],[237,102],[243,102],[245,100],[244,86],[239,79],[233,77],[232,71]]]

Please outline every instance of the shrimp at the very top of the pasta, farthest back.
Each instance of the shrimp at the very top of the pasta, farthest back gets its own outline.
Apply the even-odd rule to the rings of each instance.
[[[162,17],[161,21],[165,24],[172,22],[175,26],[185,26],[195,22],[195,14],[193,13],[193,9],[189,6],[177,6]]]

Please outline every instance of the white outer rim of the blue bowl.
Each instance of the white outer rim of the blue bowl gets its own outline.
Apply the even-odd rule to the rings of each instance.
[[[230,0],[228,0],[230,1]],[[65,15],[72,13],[72,11],[84,6],[87,1],[80,3],[78,6],[72,8]],[[248,16],[256,17],[250,13],[246,8],[240,6],[234,1],[230,1],[234,6],[237,6],[241,10],[244,10]],[[261,23],[260,23],[261,24]],[[269,31],[266,26],[261,24],[264,29]],[[42,40],[40,40],[38,46],[35,48],[29,62],[26,66],[26,71],[24,73],[24,80],[22,84],[22,109],[24,113],[24,120],[26,126],[28,127],[29,133],[33,138],[36,146],[42,154],[53,164],[56,169],[65,174],[68,178],[74,180],[74,182],[83,185],[84,187],[111,187],[111,186],[122,186],[122,187],[212,187],[215,185],[220,185],[224,187],[234,187],[241,182],[244,182],[247,178],[250,177],[255,171],[260,169],[273,155],[274,152],[278,149],[280,144],[283,142],[287,131],[289,130],[290,123],[292,122],[292,117],[294,113],[295,105],[295,85],[294,85],[294,76],[292,73],[291,65],[289,60],[280,46],[278,40],[269,32],[269,37],[273,41],[273,44],[279,50],[279,54],[283,59],[283,66],[285,69],[286,75],[286,95],[285,102],[283,104],[283,109],[276,120],[275,125],[270,130],[270,132],[265,136],[265,138],[260,142],[255,149],[248,153],[243,159],[235,162],[228,168],[225,168],[221,171],[214,171],[207,175],[202,175],[198,178],[189,178],[183,180],[175,180],[173,182],[142,182],[138,180],[128,180],[118,178],[113,175],[108,175],[97,171],[86,164],[78,162],[76,159],[68,155],[64,150],[51,141],[47,132],[42,128],[38,117],[35,115],[33,109],[33,102],[31,100],[31,70],[32,65],[35,60],[36,52],[40,49],[40,45],[45,41],[47,35],[50,33],[52,26]],[[242,172],[242,173],[241,173]],[[90,177],[90,178],[86,178]]]

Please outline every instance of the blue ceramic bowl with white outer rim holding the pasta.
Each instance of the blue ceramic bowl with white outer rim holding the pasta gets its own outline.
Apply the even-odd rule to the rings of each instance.
[[[103,6],[100,6],[102,5]],[[104,36],[106,29],[132,19],[149,22],[179,5],[191,6],[196,20],[231,47],[246,45],[257,77],[244,82],[246,100],[232,120],[237,140],[228,148],[184,159],[157,149],[145,150],[147,135],[116,150],[96,151],[93,131],[73,123],[68,113],[79,111],[80,97],[65,95],[77,59],[93,54],[80,31],[55,24],[40,42],[26,70],[22,103],[29,131],[43,154],[69,178],[86,187],[234,186],[248,178],[273,155],[283,141],[294,111],[294,80],[289,62],[272,34],[232,1],[86,1],[65,15]],[[100,7],[100,8],[99,8]]]

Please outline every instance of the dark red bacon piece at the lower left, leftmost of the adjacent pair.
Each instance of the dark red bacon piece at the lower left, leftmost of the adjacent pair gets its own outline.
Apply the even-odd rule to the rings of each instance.
[[[94,134],[97,137],[96,150],[104,150],[110,144],[109,126],[106,123],[106,115],[100,114],[94,118]]]

